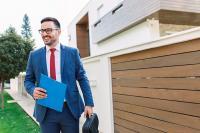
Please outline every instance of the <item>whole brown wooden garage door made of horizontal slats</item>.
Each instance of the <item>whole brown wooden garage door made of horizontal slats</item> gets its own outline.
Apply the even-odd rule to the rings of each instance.
[[[111,71],[115,127],[200,132],[200,38],[112,57]]]

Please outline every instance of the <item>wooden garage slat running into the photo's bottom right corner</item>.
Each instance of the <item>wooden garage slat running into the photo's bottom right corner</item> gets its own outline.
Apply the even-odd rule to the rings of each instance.
[[[148,127],[152,127],[158,130],[162,130],[164,132],[170,132],[170,133],[199,133],[200,130],[192,129],[189,127],[176,125],[173,123],[160,121],[157,119],[152,119],[149,117],[144,117],[141,115],[133,114],[133,113],[127,113],[119,110],[114,110],[114,116],[123,118],[132,122],[136,122],[138,124],[143,124]]]

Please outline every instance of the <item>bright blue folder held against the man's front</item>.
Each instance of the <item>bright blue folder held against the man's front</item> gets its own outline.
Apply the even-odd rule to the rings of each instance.
[[[36,103],[62,112],[67,86],[41,74],[39,87],[46,90],[47,98],[38,99]]]

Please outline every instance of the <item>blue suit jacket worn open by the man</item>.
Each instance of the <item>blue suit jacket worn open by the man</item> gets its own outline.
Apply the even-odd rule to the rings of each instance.
[[[40,75],[47,73],[46,48],[30,52],[24,85],[27,92],[33,96],[35,87],[39,85]],[[80,97],[76,81],[79,82],[86,106],[94,106],[91,88],[85,70],[80,60],[79,52],[75,48],[61,45],[61,81],[67,84],[66,101],[76,119],[84,111],[83,100]],[[34,117],[42,122],[46,107],[35,104]]]

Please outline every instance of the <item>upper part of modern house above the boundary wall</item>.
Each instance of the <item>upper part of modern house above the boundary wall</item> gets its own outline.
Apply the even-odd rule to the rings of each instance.
[[[69,25],[69,44],[99,55],[199,26],[199,17],[198,0],[91,0]]]

